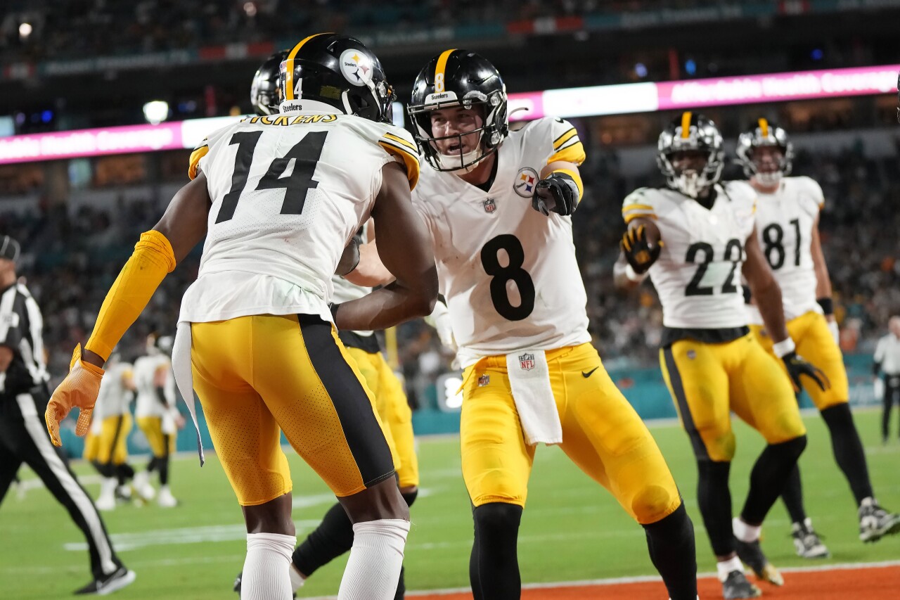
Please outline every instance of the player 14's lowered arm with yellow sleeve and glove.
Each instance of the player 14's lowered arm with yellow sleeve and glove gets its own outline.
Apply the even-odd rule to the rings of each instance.
[[[62,445],[59,422],[75,407],[80,409],[75,432],[87,432],[100,391],[103,364],[166,274],[202,240],[209,207],[206,177],[201,173],[175,194],[159,223],[140,235],[134,252],[103,300],[84,353],[78,344],[68,375],[50,396],[44,420],[55,445]]]

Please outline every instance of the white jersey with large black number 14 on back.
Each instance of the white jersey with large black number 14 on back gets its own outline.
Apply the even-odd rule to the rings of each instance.
[[[212,204],[179,322],[296,313],[330,320],[338,260],[392,161],[414,186],[410,134],[344,114],[253,117],[211,134],[191,156],[189,175],[206,175]]]

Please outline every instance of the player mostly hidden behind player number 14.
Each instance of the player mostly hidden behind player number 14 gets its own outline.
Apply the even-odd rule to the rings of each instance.
[[[275,52],[257,69],[250,86],[250,101],[257,114],[278,112],[278,68],[287,57],[287,50]],[[374,226],[367,223],[357,234],[358,243],[374,241]],[[358,260],[358,257],[356,257]],[[348,267],[356,267],[355,264]],[[352,269],[351,269],[352,270]],[[331,278],[334,293],[332,302],[342,303],[361,298],[372,292],[371,287],[356,286],[338,275]],[[359,372],[365,377],[365,385],[375,398],[375,410],[385,425],[385,439],[392,448],[397,481],[403,500],[408,506],[419,495],[419,459],[416,456],[412,432],[412,412],[406,399],[400,379],[382,356],[382,349],[374,332],[338,332],[338,339],[344,343],[356,362]],[[293,552],[291,561],[291,584],[297,591],[307,577],[332,559],[350,550],[353,545],[353,523],[339,503],[332,506],[322,518],[322,523],[307,536]],[[234,590],[240,592],[241,578],[238,573]],[[406,592],[403,569],[397,585],[395,600],[401,600]]]

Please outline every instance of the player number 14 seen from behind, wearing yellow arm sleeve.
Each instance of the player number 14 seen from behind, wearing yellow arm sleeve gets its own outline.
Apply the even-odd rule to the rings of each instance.
[[[200,397],[243,508],[241,597],[291,597],[296,538],[284,432],[354,523],[338,597],[388,600],[409,508],[374,401],[335,326],[377,330],[431,312],[437,273],[410,203],[419,163],[403,150],[410,135],[386,123],[391,87],[362,42],[311,35],[280,74],[280,114],[230,124],[194,150],[192,181],[141,235],[46,420],[58,445],[59,420],[78,406],[76,432],[84,434],[112,345],[166,273],[204,241],[181,303],[173,367],[192,418],[193,390]],[[370,216],[383,223],[382,258],[396,281],[329,310],[331,276]]]

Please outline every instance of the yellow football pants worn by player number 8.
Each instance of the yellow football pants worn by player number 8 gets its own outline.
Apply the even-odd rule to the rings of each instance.
[[[638,523],[656,523],[681,504],[669,466],[635,409],[609,378],[590,343],[546,351],[563,424],[560,447],[606,487]],[[460,444],[473,505],[524,506],[535,446],[526,444],[506,357],[466,368]]]

